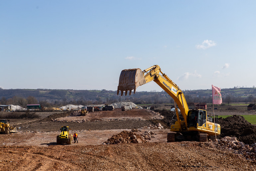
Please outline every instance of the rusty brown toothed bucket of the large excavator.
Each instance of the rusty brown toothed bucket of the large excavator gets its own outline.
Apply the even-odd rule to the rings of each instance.
[[[125,91],[125,95],[127,95],[127,91],[130,91],[129,94],[131,95],[132,90],[133,90],[133,93],[135,93],[136,88],[145,83],[146,83],[146,80],[144,78],[144,74],[141,69],[139,68],[124,69],[122,70],[119,77],[117,95],[119,94],[119,91],[121,91],[121,96],[123,95],[124,91]]]

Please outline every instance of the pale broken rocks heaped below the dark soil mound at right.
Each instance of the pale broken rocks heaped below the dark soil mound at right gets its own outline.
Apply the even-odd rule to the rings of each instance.
[[[245,158],[255,161],[256,159],[256,143],[248,145],[237,140],[236,137],[225,136],[222,139],[218,139],[218,142],[214,142],[217,148],[233,150],[235,154],[241,154]]]

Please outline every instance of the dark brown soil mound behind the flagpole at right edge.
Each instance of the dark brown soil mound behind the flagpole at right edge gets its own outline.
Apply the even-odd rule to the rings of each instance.
[[[231,136],[237,137],[237,140],[245,144],[256,142],[256,127],[246,121],[244,117],[233,115],[225,119],[219,118],[220,137]]]

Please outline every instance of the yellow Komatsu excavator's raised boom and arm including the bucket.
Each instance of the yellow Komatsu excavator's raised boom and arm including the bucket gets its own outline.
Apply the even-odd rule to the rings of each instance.
[[[119,94],[119,91],[121,91],[121,96],[123,95],[124,91],[125,95],[127,95],[128,91],[131,95],[132,90],[135,93],[138,86],[146,84],[150,81],[155,81],[165,92],[167,92],[174,99],[175,105],[178,105],[179,109],[181,110],[181,114],[185,120],[185,123],[187,123],[189,107],[185,96],[181,89],[166,74],[161,71],[161,68],[158,65],[154,65],[143,71],[139,68],[122,70],[119,77],[117,95]],[[180,121],[178,109],[177,107],[175,108],[178,121]]]

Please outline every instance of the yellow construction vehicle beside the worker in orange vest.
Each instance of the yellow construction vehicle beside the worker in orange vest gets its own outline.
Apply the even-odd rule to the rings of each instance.
[[[56,138],[57,144],[61,144],[61,143],[71,144],[73,137],[70,134],[69,130],[70,129],[68,126],[62,126],[60,128],[61,133],[60,135],[57,135],[57,138]]]

